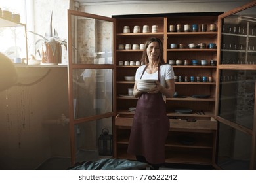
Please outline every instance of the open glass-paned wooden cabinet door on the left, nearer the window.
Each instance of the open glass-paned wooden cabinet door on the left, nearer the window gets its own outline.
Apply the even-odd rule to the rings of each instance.
[[[99,158],[98,137],[115,116],[112,18],[68,10],[68,88],[72,164]],[[112,146],[105,147],[112,154]],[[89,159],[86,159],[88,158]]]

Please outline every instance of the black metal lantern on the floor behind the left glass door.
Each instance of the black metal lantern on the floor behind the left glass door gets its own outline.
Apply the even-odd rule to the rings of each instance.
[[[109,130],[102,129],[102,134],[98,137],[98,154],[103,156],[112,156],[113,143],[112,135],[109,134]]]

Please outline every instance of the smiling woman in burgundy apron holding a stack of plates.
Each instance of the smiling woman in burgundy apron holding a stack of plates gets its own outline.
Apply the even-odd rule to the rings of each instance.
[[[171,65],[163,60],[163,44],[152,37],[144,44],[142,61],[135,75],[133,95],[139,97],[133,118],[128,153],[137,161],[150,163],[158,169],[165,162],[165,141],[169,131],[165,97],[173,97],[175,92],[174,72]],[[140,92],[140,79],[154,79],[156,87],[149,92]]]

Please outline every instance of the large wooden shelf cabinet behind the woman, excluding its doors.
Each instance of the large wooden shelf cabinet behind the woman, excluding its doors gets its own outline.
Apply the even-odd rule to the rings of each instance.
[[[114,157],[121,159],[135,159],[127,154],[129,133],[133,122],[134,108],[137,99],[125,96],[128,88],[133,88],[134,81],[125,80],[125,76],[135,76],[139,66],[121,65],[119,61],[139,61],[142,50],[119,49],[119,44],[142,44],[148,37],[158,37],[163,41],[164,59],[187,60],[188,65],[173,65],[175,76],[175,89],[177,97],[167,99],[166,107],[170,121],[169,136],[165,144],[166,163],[192,163],[212,165],[215,161],[217,122],[215,114],[216,99],[216,65],[210,61],[217,61],[217,48],[199,48],[198,44],[217,44],[218,33],[210,31],[210,25],[217,25],[218,15],[221,12],[188,13],[188,14],[147,14],[133,16],[114,16],[116,18],[116,103],[117,116],[114,122]],[[182,31],[170,31],[170,25],[180,24]],[[207,25],[207,31],[184,31],[184,25]],[[143,33],[144,25],[150,27],[149,33]],[[152,26],[158,25],[158,32],[152,33]],[[125,26],[130,27],[130,33],[123,33]],[[135,26],[140,27],[140,33],[133,33]],[[184,44],[184,48],[171,48],[171,44]],[[196,48],[189,48],[188,44],[195,43]],[[198,65],[192,65],[192,60],[198,60]],[[207,60],[207,65],[201,65],[201,60]],[[194,78],[205,76],[206,82],[191,82]],[[184,78],[188,80],[184,80]],[[208,78],[212,77],[213,82]],[[190,114],[180,114],[177,109],[191,109]]]

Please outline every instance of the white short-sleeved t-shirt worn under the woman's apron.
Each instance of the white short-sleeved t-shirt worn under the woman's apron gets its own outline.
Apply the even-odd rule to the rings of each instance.
[[[140,76],[142,75],[145,67],[146,67],[146,65],[142,65],[137,69],[136,74],[135,74],[135,80],[137,80],[137,81],[140,80]],[[160,66],[160,74],[161,74],[160,84],[163,87],[166,87],[165,80],[174,79],[173,67],[171,67],[171,65],[169,65],[169,64]],[[145,71],[141,79],[157,80],[158,79],[158,71],[156,71],[156,73],[152,73],[152,74],[148,74]]]

